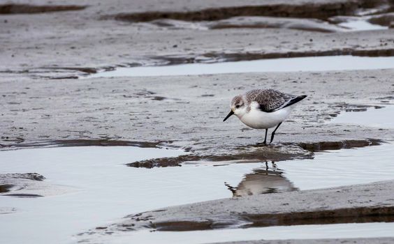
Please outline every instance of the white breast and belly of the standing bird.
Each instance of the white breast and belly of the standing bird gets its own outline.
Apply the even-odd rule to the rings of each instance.
[[[243,114],[243,116],[239,116],[239,119],[242,123],[254,129],[273,128],[289,116],[291,107],[289,106],[275,112],[267,113],[251,106],[250,111]]]

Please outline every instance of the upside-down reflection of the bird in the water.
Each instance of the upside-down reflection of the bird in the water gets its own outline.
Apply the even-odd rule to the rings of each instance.
[[[264,169],[254,169],[253,173],[246,174],[237,187],[225,183],[228,190],[233,192],[233,197],[267,194],[274,192],[289,192],[298,190],[293,183],[283,176],[283,171],[272,162],[272,168],[265,162]]]

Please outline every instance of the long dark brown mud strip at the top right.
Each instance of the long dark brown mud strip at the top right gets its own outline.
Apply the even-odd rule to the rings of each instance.
[[[207,8],[189,12],[122,13],[112,18],[126,22],[149,22],[159,19],[213,21],[237,16],[299,17],[326,20],[335,15],[354,15],[359,8],[379,6],[382,1],[343,1],[337,3],[272,4],[265,6],[238,6]]]

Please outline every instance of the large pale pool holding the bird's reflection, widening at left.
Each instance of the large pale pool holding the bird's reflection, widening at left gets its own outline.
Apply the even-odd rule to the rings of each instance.
[[[0,236],[4,243],[23,243],[27,239],[29,243],[73,243],[73,235],[108,225],[125,215],[231,197],[228,186],[242,195],[393,179],[393,149],[392,144],[384,144],[316,153],[314,160],[277,162],[274,166],[270,162],[268,171],[265,162],[220,167],[126,167],[124,164],[135,160],[182,153],[131,146],[0,151],[0,173],[37,172],[47,178],[45,182],[74,189],[51,197],[1,197],[0,208],[16,211],[0,215]],[[151,236],[145,236],[149,241]]]

